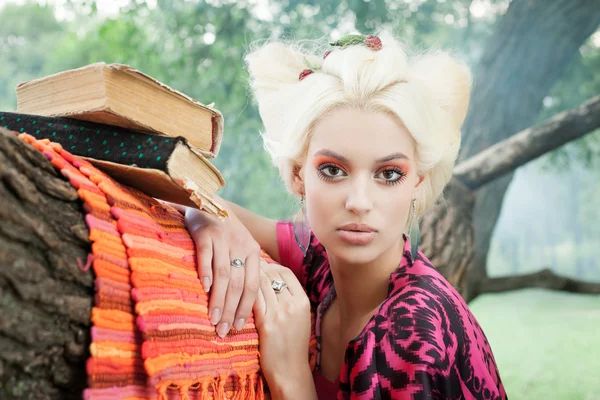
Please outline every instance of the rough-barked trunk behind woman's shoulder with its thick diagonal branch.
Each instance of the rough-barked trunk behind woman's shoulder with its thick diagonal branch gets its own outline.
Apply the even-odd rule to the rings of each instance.
[[[542,151],[552,151],[599,126],[600,97],[594,97],[572,110],[497,143],[456,166],[442,199],[421,221],[420,248],[467,302],[479,293],[485,293],[485,288],[490,287],[481,286],[487,280],[487,274],[485,269],[474,263],[476,240],[473,209],[476,189],[490,179],[498,179],[498,176],[507,171],[514,171],[538,157]],[[500,180],[506,181],[507,178]],[[509,290],[510,283],[514,283],[513,289],[518,289],[522,288],[522,282],[530,280],[509,279],[507,282],[503,287]]]

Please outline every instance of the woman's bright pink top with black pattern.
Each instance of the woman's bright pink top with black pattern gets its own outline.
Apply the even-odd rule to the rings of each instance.
[[[321,319],[335,298],[327,251],[311,233],[306,257],[293,224],[277,223],[281,264],[298,277],[316,314],[319,399],[506,399],[490,345],[460,294],[410,243],[390,274],[388,297],[348,343],[336,382],[320,374]]]

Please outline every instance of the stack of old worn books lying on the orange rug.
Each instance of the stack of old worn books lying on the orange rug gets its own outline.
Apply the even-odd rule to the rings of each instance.
[[[121,183],[226,216],[223,115],[127,65],[96,63],[23,82],[9,129],[47,137]],[[18,121],[18,122],[17,122]],[[15,129],[19,128],[19,129]]]

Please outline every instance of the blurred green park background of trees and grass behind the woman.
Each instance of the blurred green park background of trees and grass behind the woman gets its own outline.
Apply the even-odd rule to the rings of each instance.
[[[597,1],[578,3],[588,7],[583,12],[600,13]],[[493,42],[493,33],[509,6],[507,0],[0,0],[0,110],[16,108],[15,86],[21,81],[98,61],[132,65],[203,103],[214,102],[225,115],[215,160],[227,181],[220,194],[286,219],[298,203],[262,149],[261,122],[243,65],[251,43],[271,37],[336,39],[386,27],[410,45],[452,50],[475,69],[489,46],[502,46]],[[533,21],[536,15],[524,18]],[[526,68],[533,55],[508,57],[514,59],[507,65]],[[600,31],[569,57],[536,121],[600,93]],[[474,90],[478,85],[485,82],[476,81]],[[518,106],[523,88],[506,90]],[[546,267],[600,282],[599,200],[598,131],[519,168],[491,236],[488,275]],[[486,294],[470,306],[511,398],[600,399],[600,377],[590,373],[600,371],[598,296],[529,289]]]

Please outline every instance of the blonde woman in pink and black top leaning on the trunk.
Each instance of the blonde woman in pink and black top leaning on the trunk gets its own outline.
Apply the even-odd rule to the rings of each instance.
[[[188,210],[218,334],[256,299],[274,398],[506,398],[475,317],[405,234],[451,177],[469,70],[409,58],[389,36],[347,36],[324,56],[268,43],[246,61],[265,148],[310,230],[224,200],[225,222]]]

